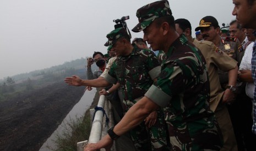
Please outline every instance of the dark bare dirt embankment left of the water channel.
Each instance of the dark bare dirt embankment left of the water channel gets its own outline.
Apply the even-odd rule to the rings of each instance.
[[[0,102],[0,150],[39,150],[83,90],[59,82]]]

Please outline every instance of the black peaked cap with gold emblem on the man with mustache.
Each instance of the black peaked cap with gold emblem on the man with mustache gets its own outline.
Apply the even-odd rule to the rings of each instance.
[[[213,16],[205,16],[203,19],[200,20],[199,26],[195,28],[195,31],[199,31],[203,27],[210,26],[214,26],[215,28],[220,27],[219,22]]]

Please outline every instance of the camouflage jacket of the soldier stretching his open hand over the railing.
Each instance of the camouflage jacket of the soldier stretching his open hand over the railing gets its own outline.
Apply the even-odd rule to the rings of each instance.
[[[119,82],[123,87],[124,100],[129,101],[144,96],[161,69],[154,52],[133,46],[132,54],[117,57],[105,77],[110,83]]]

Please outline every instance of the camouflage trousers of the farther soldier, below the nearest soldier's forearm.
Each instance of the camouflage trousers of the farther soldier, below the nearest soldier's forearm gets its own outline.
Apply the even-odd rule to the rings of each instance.
[[[137,102],[136,100],[134,100],[135,102],[128,100],[124,101],[124,109],[126,112]],[[157,111],[157,120],[152,127],[146,127],[143,121],[143,123],[130,131],[130,136],[132,137],[135,148],[138,150],[167,148],[167,125],[164,120],[164,112],[162,109],[160,108]]]

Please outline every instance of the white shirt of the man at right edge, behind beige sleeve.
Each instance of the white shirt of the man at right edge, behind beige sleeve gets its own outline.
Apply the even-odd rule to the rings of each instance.
[[[244,69],[252,71],[253,45],[254,43],[252,42],[247,46],[244,52],[243,59],[239,66],[239,71]],[[254,88],[255,88],[255,85],[253,83],[248,83],[248,82],[246,83],[246,95],[248,95],[250,98],[253,98]]]

